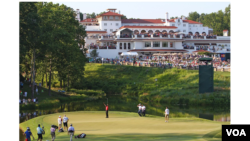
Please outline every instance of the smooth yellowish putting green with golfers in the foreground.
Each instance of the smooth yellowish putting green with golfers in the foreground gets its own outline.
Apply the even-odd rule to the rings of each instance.
[[[218,134],[222,124],[231,122],[216,122],[199,118],[170,118],[165,122],[165,117],[146,115],[139,117],[137,113],[110,111],[109,118],[105,118],[105,111],[78,111],[56,113],[39,116],[19,124],[19,127],[31,128],[36,135],[37,124],[43,124],[45,135],[43,140],[51,140],[50,125],[57,125],[59,115],[69,118],[73,124],[75,134],[87,134],[82,140],[221,140]],[[170,113],[171,114],[171,113]],[[216,136],[217,135],[217,136]],[[66,132],[56,131],[55,141],[68,141]]]

